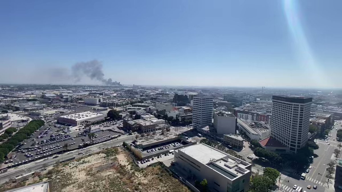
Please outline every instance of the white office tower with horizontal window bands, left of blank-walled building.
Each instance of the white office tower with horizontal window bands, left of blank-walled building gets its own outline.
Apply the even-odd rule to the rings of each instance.
[[[200,129],[210,125],[213,118],[213,97],[196,95],[193,103],[193,127]]]

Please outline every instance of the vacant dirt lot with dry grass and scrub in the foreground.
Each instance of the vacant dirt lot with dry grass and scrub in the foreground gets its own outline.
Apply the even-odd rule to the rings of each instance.
[[[0,191],[48,179],[52,179],[54,192],[190,191],[159,165],[145,169],[138,168],[127,152],[119,148],[110,148],[82,159],[54,166],[43,173],[36,173],[23,182],[5,183],[0,186]]]

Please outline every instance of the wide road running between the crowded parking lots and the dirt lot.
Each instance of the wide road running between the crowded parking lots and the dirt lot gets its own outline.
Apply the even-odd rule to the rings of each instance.
[[[93,146],[89,146],[86,148],[86,150],[75,150],[73,153],[64,153],[62,155],[59,155],[57,158],[50,157],[49,159],[39,160],[35,162],[31,162],[29,164],[24,164],[15,168],[8,169],[7,172],[0,174],[0,184],[10,180],[11,178],[24,175],[26,173],[34,172],[41,170],[42,168],[48,167],[50,165],[53,165],[57,161],[63,161],[72,157],[80,157],[87,154],[92,154],[95,152],[100,151],[103,148],[107,147],[114,147],[116,145],[122,144],[123,141],[125,142],[131,142],[135,138],[135,135],[123,135],[119,137],[118,139],[113,139],[104,143],[99,143]],[[83,152],[83,154],[78,155],[79,152]]]

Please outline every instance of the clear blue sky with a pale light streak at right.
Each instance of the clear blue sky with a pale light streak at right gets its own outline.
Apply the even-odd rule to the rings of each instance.
[[[342,88],[342,1],[3,0],[0,83]]]

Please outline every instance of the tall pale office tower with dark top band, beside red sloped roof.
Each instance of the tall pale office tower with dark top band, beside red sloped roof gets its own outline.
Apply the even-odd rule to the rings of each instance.
[[[307,143],[312,97],[273,96],[271,136],[297,153]]]

